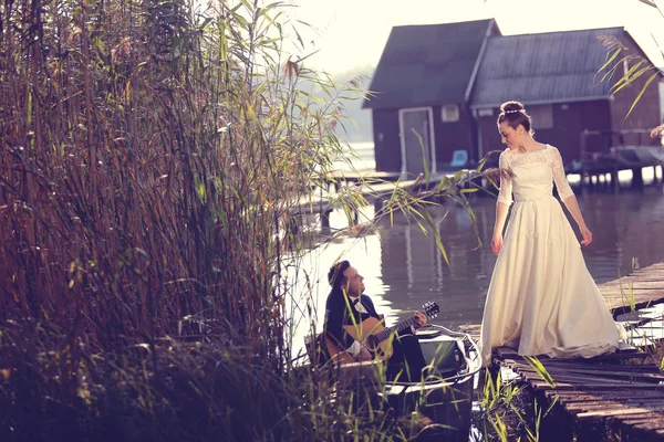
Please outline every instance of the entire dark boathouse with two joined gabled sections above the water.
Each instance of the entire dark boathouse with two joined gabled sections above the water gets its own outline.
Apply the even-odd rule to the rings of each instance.
[[[602,81],[608,42],[625,50]],[[635,57],[623,62],[627,55]],[[473,167],[504,149],[496,118],[509,99],[526,105],[536,138],[557,146],[568,170],[613,147],[658,146],[650,131],[663,118],[661,75],[626,119],[652,72],[610,91],[640,57],[623,28],[505,36],[494,20],[395,27],[369,87],[375,96],[363,105],[372,112],[376,170]]]

